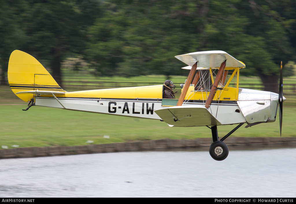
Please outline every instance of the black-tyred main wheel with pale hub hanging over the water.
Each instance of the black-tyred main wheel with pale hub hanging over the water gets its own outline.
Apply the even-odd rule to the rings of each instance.
[[[228,156],[228,146],[222,141],[215,141],[209,149],[210,155],[214,160],[222,161]]]

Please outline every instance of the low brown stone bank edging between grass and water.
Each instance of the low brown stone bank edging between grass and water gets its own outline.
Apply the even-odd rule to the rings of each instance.
[[[131,152],[149,150],[169,150],[178,148],[205,148],[212,144],[212,138],[197,139],[158,139],[133,141],[126,143],[89,144],[82,146],[46,146],[24,147],[14,149],[0,149],[0,159],[24,158],[24,157],[47,157],[73,154],[93,154],[107,152]],[[294,146],[295,137],[231,137],[227,138],[226,144],[232,146]]]

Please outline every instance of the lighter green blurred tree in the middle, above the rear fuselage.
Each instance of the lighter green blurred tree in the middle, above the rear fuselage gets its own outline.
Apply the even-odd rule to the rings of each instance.
[[[90,28],[86,51],[98,74],[153,73],[165,74],[168,78],[171,74],[180,74],[183,63],[173,56],[184,53],[196,39],[192,33],[184,32],[191,23],[182,20],[186,15],[179,15],[178,10],[176,14],[171,11],[174,4],[175,1],[106,2],[104,17]],[[196,30],[195,26],[191,27]]]

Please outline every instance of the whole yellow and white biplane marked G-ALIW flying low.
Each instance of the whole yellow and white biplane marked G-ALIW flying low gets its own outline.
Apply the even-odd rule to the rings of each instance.
[[[243,124],[274,122],[278,105],[280,133],[283,97],[282,68],[279,94],[239,88],[239,71],[245,64],[224,51],[193,52],[176,56],[190,69],[181,96],[163,98],[164,85],[67,92],[33,56],[15,50],[9,58],[8,81],[12,91],[31,106],[157,119],[174,127],[207,126],[213,143],[210,155],[224,160],[223,142]],[[237,126],[218,137],[218,125]]]

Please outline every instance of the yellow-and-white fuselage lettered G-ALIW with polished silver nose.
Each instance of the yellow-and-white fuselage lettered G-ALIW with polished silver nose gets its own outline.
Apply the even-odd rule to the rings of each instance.
[[[163,85],[87,90],[56,95],[58,101],[52,95],[39,96],[35,105],[161,120],[154,111],[176,106],[178,101],[164,99],[162,94]],[[239,88],[237,97],[229,90],[221,90],[216,95],[224,96],[224,100],[214,98],[208,110],[222,125],[275,121],[276,93]],[[189,90],[182,106],[205,106],[206,97],[205,92]],[[195,126],[203,125],[197,123]]]

